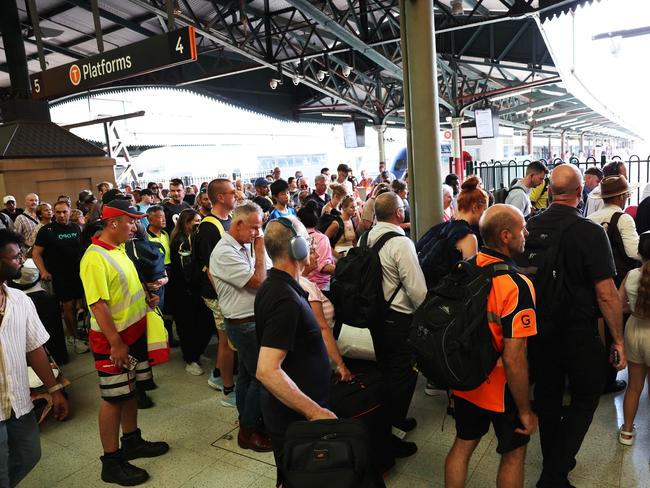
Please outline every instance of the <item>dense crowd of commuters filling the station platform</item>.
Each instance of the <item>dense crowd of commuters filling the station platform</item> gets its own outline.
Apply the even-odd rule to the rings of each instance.
[[[536,486],[570,487],[602,394],[626,390],[617,435],[622,444],[634,442],[650,366],[650,234],[643,233],[650,199],[629,208],[635,188],[618,163],[583,175],[574,165],[549,172],[533,162],[501,194],[486,191],[476,176],[449,175],[443,222],[417,244],[408,238],[408,176],[396,179],[383,165],[375,179],[362,171],[359,180],[346,164],[331,175],[323,168],[313,185],[300,171],[285,180],[275,168],[250,183],[216,178],[186,187],[173,179],[167,188],[151,182],[117,189],[102,182],[74,204],[66,195],[50,204],[30,193],[17,208],[7,195],[0,320],[22,332],[0,329],[8,378],[0,391],[0,442],[8,452],[0,477],[15,486],[39,458],[28,386],[18,377],[26,368],[21,358],[64,419],[68,400],[46,351],[65,364],[70,349],[92,351],[98,372],[102,479],[129,486],[148,479],[130,461],[169,450],[144,440],[137,420],[138,409],[154,406],[146,392],[158,386],[147,355],[152,310],[163,317],[169,346],[180,348],[186,373],[207,372],[218,405],[237,409],[238,445],[272,451],[282,466],[290,424],[337,417],[332,374],[348,381],[354,372],[337,344],[332,283],[352,249],[375,246],[386,309],[370,337],[388,422],[401,433],[382,448],[398,458],[417,452],[407,440],[417,428],[408,416],[418,377],[408,340],[414,314],[458,261],[505,263],[516,271],[492,278],[485,304],[485,327],[500,359],[478,388],[450,392],[457,435],[446,486],[464,486],[471,455],[492,424],[501,455],[497,486],[523,486],[526,445],[539,425],[543,469]],[[540,236],[552,238],[540,244]],[[149,258],[147,249],[154,250]],[[531,266],[544,250],[553,256],[545,265],[552,263],[561,281],[552,292],[540,278],[544,264]],[[47,303],[36,300],[44,290]],[[202,356],[215,333],[216,363],[207,365]],[[629,384],[617,378],[626,367]],[[428,380],[426,394],[442,388]],[[27,441],[15,443],[16,436]],[[278,486],[282,478],[278,469]]]

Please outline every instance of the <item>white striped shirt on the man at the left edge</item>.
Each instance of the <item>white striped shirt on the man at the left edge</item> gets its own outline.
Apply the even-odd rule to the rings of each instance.
[[[0,324],[0,421],[5,421],[12,410],[19,418],[34,408],[29,396],[26,354],[41,347],[50,336],[29,297],[2,286],[7,306]]]

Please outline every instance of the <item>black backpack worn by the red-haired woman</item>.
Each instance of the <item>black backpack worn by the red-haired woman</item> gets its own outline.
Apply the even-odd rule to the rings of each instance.
[[[464,220],[452,220],[433,226],[415,245],[427,288],[433,288],[442,277],[449,274],[463,255],[454,246],[459,239],[471,234]]]

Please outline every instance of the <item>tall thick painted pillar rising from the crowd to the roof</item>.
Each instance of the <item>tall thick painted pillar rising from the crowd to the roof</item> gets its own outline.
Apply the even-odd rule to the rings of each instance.
[[[433,2],[400,0],[411,236],[442,222],[442,167]]]

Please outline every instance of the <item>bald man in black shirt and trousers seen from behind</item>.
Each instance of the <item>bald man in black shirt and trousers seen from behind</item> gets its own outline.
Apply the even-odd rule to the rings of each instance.
[[[614,339],[612,364],[621,370],[626,358],[607,235],[576,208],[582,197],[582,174],[563,164],[553,170],[549,187],[553,203],[529,220],[524,253],[530,262],[542,258],[533,275],[538,336],[529,347],[544,457],[537,487],[568,488],[567,475],[575,467],[605,385],[599,309]],[[571,400],[563,406],[567,377]]]

